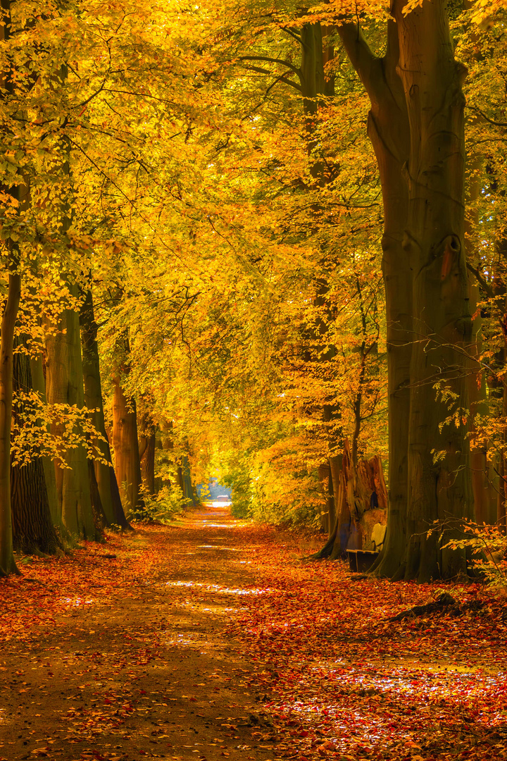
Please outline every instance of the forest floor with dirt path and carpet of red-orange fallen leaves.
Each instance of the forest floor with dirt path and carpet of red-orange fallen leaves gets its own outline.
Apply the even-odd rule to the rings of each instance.
[[[25,559],[0,759],[507,759],[505,600],[303,562],[321,543],[222,508]]]

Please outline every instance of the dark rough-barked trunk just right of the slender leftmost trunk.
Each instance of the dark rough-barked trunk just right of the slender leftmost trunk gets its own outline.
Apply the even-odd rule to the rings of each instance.
[[[14,345],[21,344],[19,339]],[[14,391],[33,388],[30,359],[24,353],[14,354]],[[14,416],[21,412],[16,405]],[[11,467],[11,508],[14,549],[20,552],[53,553],[61,548],[52,524],[43,462],[40,457],[24,466]]]

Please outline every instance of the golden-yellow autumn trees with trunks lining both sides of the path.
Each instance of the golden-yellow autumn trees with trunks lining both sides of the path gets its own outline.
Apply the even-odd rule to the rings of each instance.
[[[1,0],[0,575],[195,501],[505,532],[507,2]],[[373,502],[371,503],[373,505]]]

